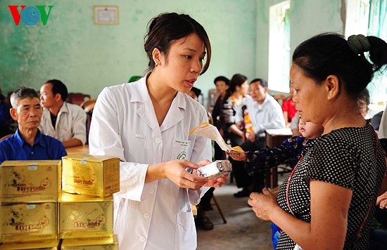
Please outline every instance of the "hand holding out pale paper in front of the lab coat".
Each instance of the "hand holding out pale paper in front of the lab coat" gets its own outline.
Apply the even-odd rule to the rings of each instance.
[[[198,135],[198,136],[203,136],[205,138],[208,138],[210,140],[215,140],[217,145],[219,145],[219,147],[226,152],[244,153],[241,147],[239,146],[231,147],[231,145],[228,145],[226,142],[224,142],[216,126],[213,126],[208,122],[203,122],[202,124],[199,124],[198,126],[196,126],[194,129],[192,129],[191,132],[189,132],[189,135]]]

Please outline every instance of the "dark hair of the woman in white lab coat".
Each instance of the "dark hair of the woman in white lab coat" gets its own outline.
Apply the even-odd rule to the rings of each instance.
[[[205,46],[206,60],[201,70],[201,74],[204,74],[210,67],[211,60],[211,44],[207,32],[194,18],[177,13],[161,13],[148,22],[148,32],[144,43],[144,49],[149,59],[148,70],[153,70],[156,67],[152,57],[154,48],[158,48],[167,58],[172,43],[178,39],[188,37],[190,34],[197,34]]]

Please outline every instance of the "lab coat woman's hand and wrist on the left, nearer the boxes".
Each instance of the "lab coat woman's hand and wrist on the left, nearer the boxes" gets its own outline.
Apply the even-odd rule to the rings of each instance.
[[[208,178],[196,175],[196,169],[208,163],[210,163],[210,161],[201,161],[199,162],[201,165],[199,165],[186,159],[176,159],[170,162],[151,164],[148,166],[148,171],[146,173],[146,182],[168,178],[176,185],[179,185],[179,187],[197,190],[208,182]],[[194,169],[194,172],[189,173],[189,171],[186,170],[187,168]]]

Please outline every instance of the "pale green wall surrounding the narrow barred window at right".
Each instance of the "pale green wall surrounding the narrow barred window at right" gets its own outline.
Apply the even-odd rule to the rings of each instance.
[[[257,1],[257,76],[268,78],[269,8],[281,0]],[[338,32],[343,34],[341,0],[291,0],[291,54],[298,44],[315,34]],[[291,62],[289,62],[291,63]],[[269,83],[270,85],[270,83]],[[271,93],[276,93],[272,91]]]

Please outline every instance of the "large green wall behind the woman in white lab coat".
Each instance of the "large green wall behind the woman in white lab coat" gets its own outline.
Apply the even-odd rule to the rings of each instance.
[[[94,5],[119,6],[119,25],[94,25]],[[46,26],[16,26],[8,5],[53,5]],[[203,93],[220,74],[255,77],[255,0],[0,1],[0,86],[39,89],[61,79],[70,92],[98,96],[104,86],[144,74],[144,35],[158,13],[188,13],[201,22],[212,42],[210,69],[196,84]]]

